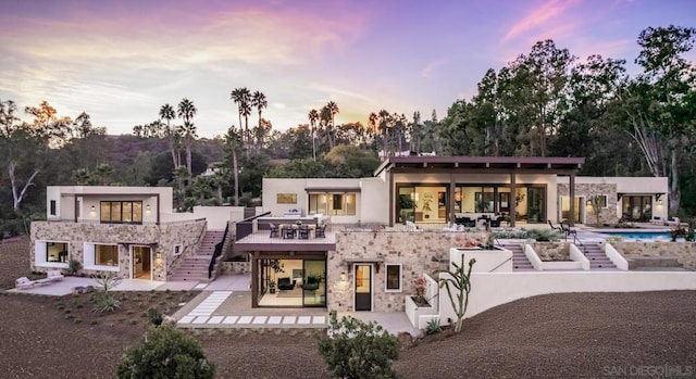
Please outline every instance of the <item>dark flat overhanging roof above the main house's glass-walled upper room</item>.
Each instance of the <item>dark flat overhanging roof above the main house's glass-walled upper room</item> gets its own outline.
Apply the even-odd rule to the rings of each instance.
[[[577,170],[585,163],[584,157],[571,156],[389,156],[382,162],[374,175],[383,170],[425,170],[443,168],[457,170],[544,170],[564,173]]]

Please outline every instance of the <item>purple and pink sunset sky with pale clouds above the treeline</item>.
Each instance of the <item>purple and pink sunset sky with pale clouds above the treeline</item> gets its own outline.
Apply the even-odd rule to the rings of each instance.
[[[238,124],[235,88],[286,130],[337,103],[439,118],[539,40],[584,60],[638,54],[648,26],[696,26],[693,0],[0,0],[0,100],[87,112],[110,135],[188,98],[201,137]],[[630,72],[631,72],[631,67]],[[257,111],[250,125],[257,125]],[[23,119],[29,119],[22,112]]]

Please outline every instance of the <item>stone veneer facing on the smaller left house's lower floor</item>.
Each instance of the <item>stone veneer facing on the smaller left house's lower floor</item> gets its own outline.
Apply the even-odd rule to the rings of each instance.
[[[67,241],[69,260],[79,261],[83,265],[84,243],[119,243],[119,277],[130,277],[129,245],[123,242],[147,243],[158,242],[154,253],[162,253],[162,263],[152,262],[152,279],[166,280],[167,271],[174,257],[174,245],[183,244],[185,251],[196,251],[199,238],[206,229],[206,222],[177,223],[167,225],[126,225],[97,223],[63,223],[34,222],[32,223],[32,242],[29,255],[32,270],[48,270],[50,268],[36,267],[36,241]],[[97,270],[83,269],[87,275]]]

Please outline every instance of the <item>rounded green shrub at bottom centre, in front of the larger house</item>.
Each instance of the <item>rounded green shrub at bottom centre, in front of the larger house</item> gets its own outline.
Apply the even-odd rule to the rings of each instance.
[[[391,361],[399,344],[374,321],[365,324],[350,316],[340,321],[330,314],[328,333],[319,342],[328,369],[335,378],[395,378]]]

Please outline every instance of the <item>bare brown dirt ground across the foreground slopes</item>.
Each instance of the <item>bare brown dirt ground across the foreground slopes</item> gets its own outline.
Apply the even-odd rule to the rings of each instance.
[[[0,283],[28,274],[28,257],[14,256],[28,242],[15,243],[0,245]],[[142,338],[147,308],[172,308],[194,294],[122,293],[122,307],[100,315],[88,294],[1,293],[0,377],[113,378],[127,346]],[[535,296],[468,319],[459,334],[428,337],[402,350],[394,367],[401,378],[696,377],[695,316],[696,291]],[[310,331],[195,336],[219,378],[327,377]]]

